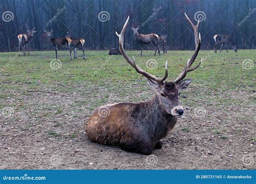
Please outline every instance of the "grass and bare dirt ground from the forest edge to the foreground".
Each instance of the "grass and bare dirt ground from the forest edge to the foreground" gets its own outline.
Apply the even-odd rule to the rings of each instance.
[[[169,78],[193,51],[127,52],[137,64]],[[255,168],[255,50],[200,51],[201,67],[187,75],[181,91],[185,117],[153,155],[92,143],[86,122],[107,103],[147,101],[153,90],[121,55],[0,53],[0,168],[2,169],[252,169]],[[51,62],[52,61],[52,62]],[[60,63],[59,63],[60,64]],[[156,64],[156,68],[153,64]],[[57,68],[57,69],[56,69]]]

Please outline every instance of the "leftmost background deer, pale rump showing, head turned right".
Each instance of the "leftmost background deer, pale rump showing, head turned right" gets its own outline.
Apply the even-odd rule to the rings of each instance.
[[[23,51],[23,55],[26,55],[26,49],[28,49],[28,43],[33,38],[35,31],[35,27],[30,30],[29,27],[26,25],[26,32],[28,34],[19,34],[18,35],[18,41],[19,41],[19,56],[21,56],[21,47]],[[29,50],[28,50],[29,53]]]

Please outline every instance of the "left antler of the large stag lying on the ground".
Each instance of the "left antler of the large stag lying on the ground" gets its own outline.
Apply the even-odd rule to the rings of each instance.
[[[129,16],[130,17],[130,16]],[[145,77],[147,77],[148,79],[150,80],[153,80],[153,81],[156,81],[157,83],[159,84],[163,84],[164,80],[167,78],[168,76],[168,69],[167,69],[167,61],[165,62],[165,75],[162,79],[158,79],[156,76],[154,75],[151,75],[150,73],[147,73],[145,72],[142,68],[140,68],[138,65],[136,65],[135,63],[135,60],[134,60],[134,57],[133,57],[133,60],[131,60],[129,58],[129,56],[125,53],[124,51],[124,33],[125,33],[125,30],[126,30],[126,27],[127,27],[127,24],[129,22],[129,17],[127,18],[124,26],[123,26],[123,29],[121,31],[120,34],[117,34],[117,36],[119,37],[119,49],[120,49],[120,52],[122,53],[122,55],[124,56],[124,58],[126,59],[126,61],[134,68],[136,69],[136,71],[139,73],[139,74],[142,74],[144,75]]]

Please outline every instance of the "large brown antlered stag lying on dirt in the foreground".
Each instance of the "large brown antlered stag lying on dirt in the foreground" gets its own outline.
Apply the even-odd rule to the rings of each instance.
[[[161,148],[160,139],[166,137],[173,129],[177,118],[184,114],[184,109],[179,103],[179,90],[185,89],[191,79],[183,80],[188,72],[197,69],[199,64],[190,68],[201,45],[185,68],[173,82],[165,82],[168,76],[167,61],[165,75],[159,79],[136,65],[123,48],[123,38],[129,17],[127,18],[119,37],[119,49],[126,61],[149,82],[156,94],[150,101],[140,103],[107,104],[93,111],[87,123],[87,136],[96,143],[121,146],[122,150],[151,154],[154,148]]]

